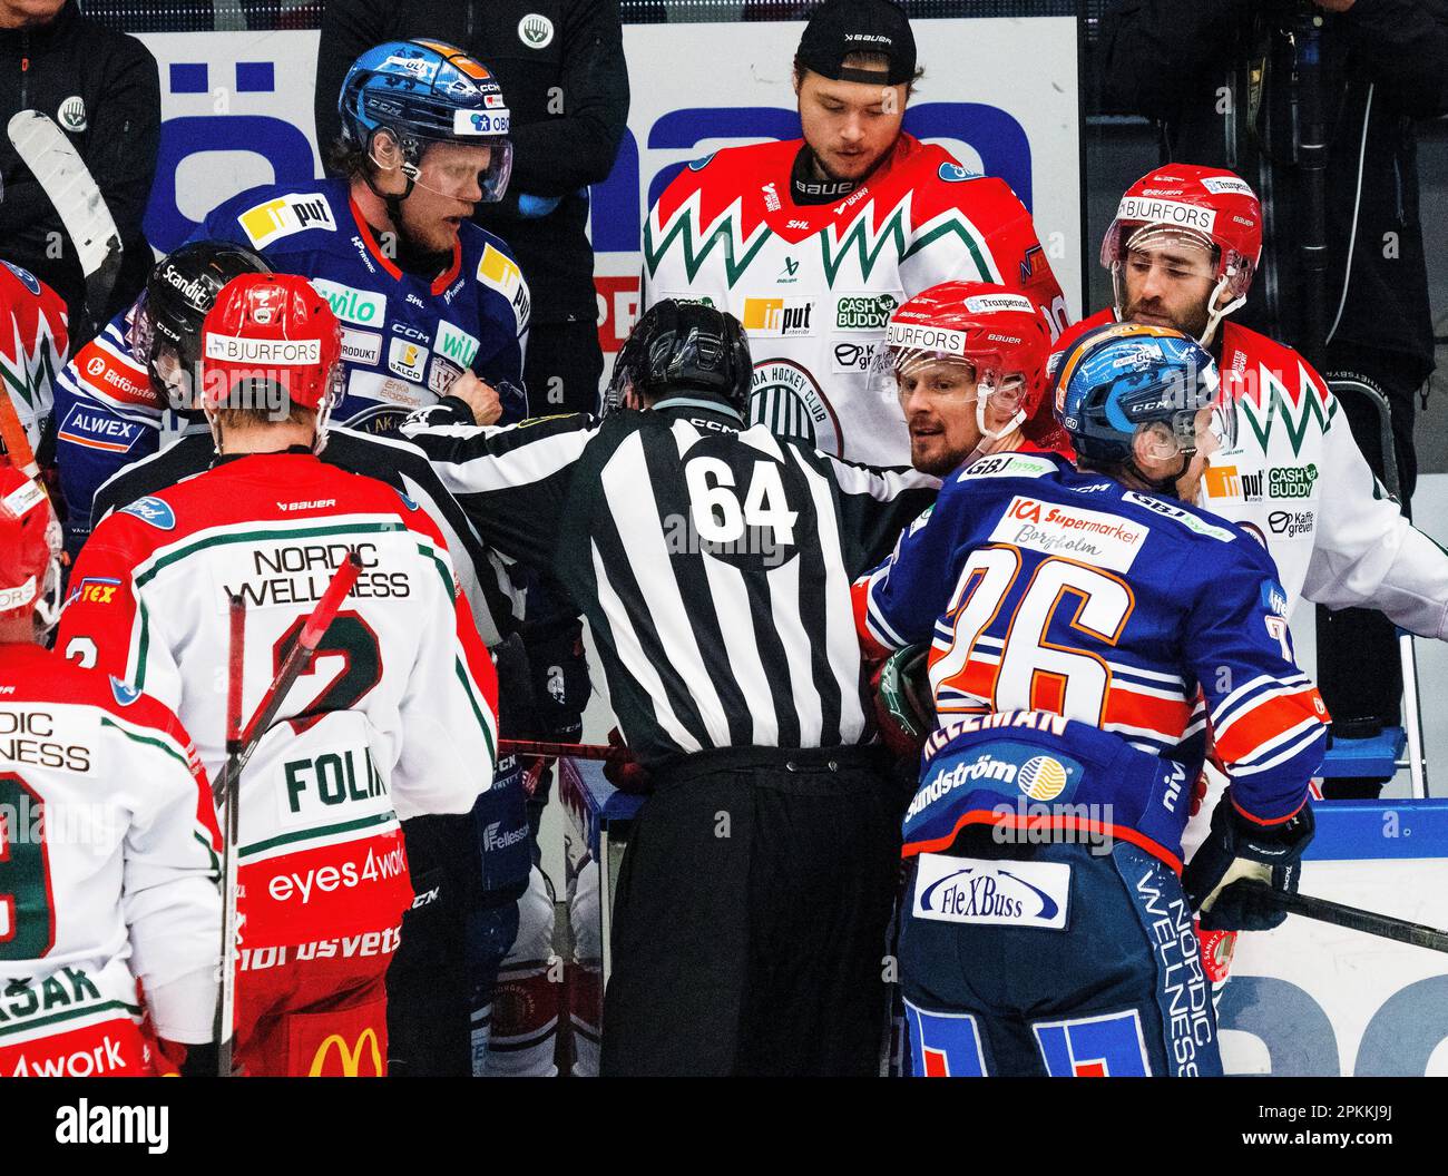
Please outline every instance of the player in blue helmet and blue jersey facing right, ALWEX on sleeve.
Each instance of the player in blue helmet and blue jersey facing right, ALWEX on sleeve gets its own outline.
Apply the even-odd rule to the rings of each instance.
[[[497,81],[452,46],[390,42],[352,67],[339,109],[333,162],[348,178],[251,188],[207,216],[193,242],[245,246],[326,295],[343,336],[333,423],[394,432],[458,379],[485,381],[501,394],[504,423],[521,419],[527,282],[508,246],[468,219],[508,182]],[[184,429],[167,414],[153,342],[142,298],[56,379],[72,555],[90,533],[96,490]]]

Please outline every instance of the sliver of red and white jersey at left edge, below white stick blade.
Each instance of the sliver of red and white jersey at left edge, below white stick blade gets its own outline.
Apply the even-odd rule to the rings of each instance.
[[[36,448],[55,404],[52,384],[70,355],[65,301],[29,269],[6,261],[0,262],[0,375]]]

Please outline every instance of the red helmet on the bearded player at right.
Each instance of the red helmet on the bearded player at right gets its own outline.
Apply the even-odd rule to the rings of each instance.
[[[1225,168],[1166,164],[1127,188],[1116,216],[1100,243],[1100,264],[1111,271],[1116,310],[1124,310],[1121,264],[1132,246],[1160,240],[1187,240],[1212,253],[1216,288],[1212,291],[1208,343],[1216,324],[1247,301],[1263,252],[1263,210],[1251,184]],[[1231,300],[1216,308],[1226,290]]]

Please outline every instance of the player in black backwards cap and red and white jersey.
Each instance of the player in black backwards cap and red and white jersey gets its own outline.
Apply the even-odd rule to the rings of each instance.
[[[827,0],[795,56],[802,139],[691,162],[644,223],[643,306],[734,314],[750,417],[835,456],[902,465],[893,395],[867,391],[891,313],[938,282],[1022,288],[1066,324],[1031,216],[1002,180],[901,130],[915,39],[889,0]]]

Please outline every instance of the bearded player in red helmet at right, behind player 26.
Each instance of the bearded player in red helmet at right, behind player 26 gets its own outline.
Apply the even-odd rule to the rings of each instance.
[[[1115,320],[1196,337],[1234,407],[1202,505],[1267,545],[1289,608],[1300,597],[1370,605],[1448,639],[1448,558],[1377,490],[1308,361],[1228,317],[1247,300],[1260,252],[1261,207],[1244,180],[1190,164],[1148,172],[1127,190],[1102,242],[1115,304],[1061,335],[1051,368],[1082,335]]]

